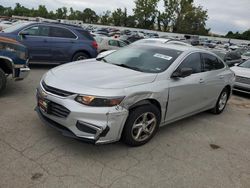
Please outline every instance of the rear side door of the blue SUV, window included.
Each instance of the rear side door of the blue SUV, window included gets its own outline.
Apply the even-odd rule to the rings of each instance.
[[[73,54],[71,49],[77,43],[77,36],[69,29],[50,26],[51,51],[55,62],[69,62]]]

